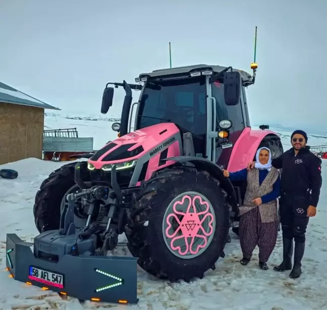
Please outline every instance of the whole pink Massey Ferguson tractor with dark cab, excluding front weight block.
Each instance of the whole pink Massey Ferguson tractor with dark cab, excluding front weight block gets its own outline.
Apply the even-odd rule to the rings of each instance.
[[[224,178],[222,168],[245,168],[261,146],[274,158],[283,152],[268,126],[250,127],[245,88],[254,77],[255,70],[195,65],[140,74],[136,84],[108,83],[101,113],[113,103],[109,84],[126,92],[121,123],[112,126],[119,138],[51,173],[36,194],[47,259],[44,244],[61,228],[79,248],[63,237],[56,250],[65,255],[106,256],[125,233],[139,266],[157,278],[190,281],[214,269],[229,229],[237,233],[244,196],[243,184]],[[133,105],[132,89],[140,91]]]

